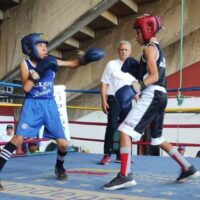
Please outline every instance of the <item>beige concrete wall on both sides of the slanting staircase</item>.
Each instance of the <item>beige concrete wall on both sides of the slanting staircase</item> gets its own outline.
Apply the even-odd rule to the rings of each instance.
[[[24,57],[20,46],[22,36],[31,32],[44,32],[51,40],[100,1],[84,0],[83,4],[82,0],[23,0],[19,6],[6,11],[5,19],[0,24],[0,77],[15,68]],[[199,61],[199,7],[200,1],[185,1],[183,68]],[[56,83],[67,85],[68,89],[90,89],[98,86],[106,62],[117,56],[116,45],[121,39],[132,43],[132,56],[139,59],[141,47],[135,41],[132,21],[144,13],[161,16],[165,31],[158,34],[158,38],[166,53],[167,74],[178,71],[180,11],[180,1],[174,0],[140,5],[136,15],[121,18],[118,26],[98,31],[95,40],[83,44],[83,48],[102,47],[106,53],[102,61],[76,70],[60,70]]]

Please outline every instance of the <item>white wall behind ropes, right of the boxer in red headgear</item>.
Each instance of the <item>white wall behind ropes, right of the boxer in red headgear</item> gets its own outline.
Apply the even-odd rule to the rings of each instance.
[[[181,106],[176,99],[168,100],[168,108],[200,108],[200,98],[186,98]],[[200,113],[166,114],[164,124],[177,124],[177,128],[165,128],[164,137],[169,142],[200,144],[200,128],[179,128],[179,125],[200,124]],[[195,157],[200,147],[186,147],[185,156]],[[162,155],[166,155],[161,152]]]

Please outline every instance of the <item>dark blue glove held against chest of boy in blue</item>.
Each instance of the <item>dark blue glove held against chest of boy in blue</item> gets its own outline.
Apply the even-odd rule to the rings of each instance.
[[[54,72],[58,71],[57,60],[53,56],[46,56],[36,65],[35,70],[32,70],[29,74],[29,80],[33,81],[34,84],[38,83],[46,71],[51,69]]]

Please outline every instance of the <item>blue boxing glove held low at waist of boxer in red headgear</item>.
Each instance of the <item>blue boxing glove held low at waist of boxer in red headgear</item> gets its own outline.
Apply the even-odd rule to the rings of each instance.
[[[118,101],[121,111],[126,112],[130,110],[132,105],[132,99],[136,95],[136,92],[129,85],[124,85],[115,93],[115,98]]]

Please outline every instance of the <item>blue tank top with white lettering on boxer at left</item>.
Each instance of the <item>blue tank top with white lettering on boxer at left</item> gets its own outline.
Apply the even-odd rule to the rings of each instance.
[[[31,64],[30,60],[25,60],[25,62],[29,72],[35,69],[35,67]],[[33,88],[28,93],[26,93],[26,98],[53,99],[54,79],[55,79],[55,72],[49,69],[44,75],[44,77],[42,77],[39,80],[39,83],[34,85]]]

